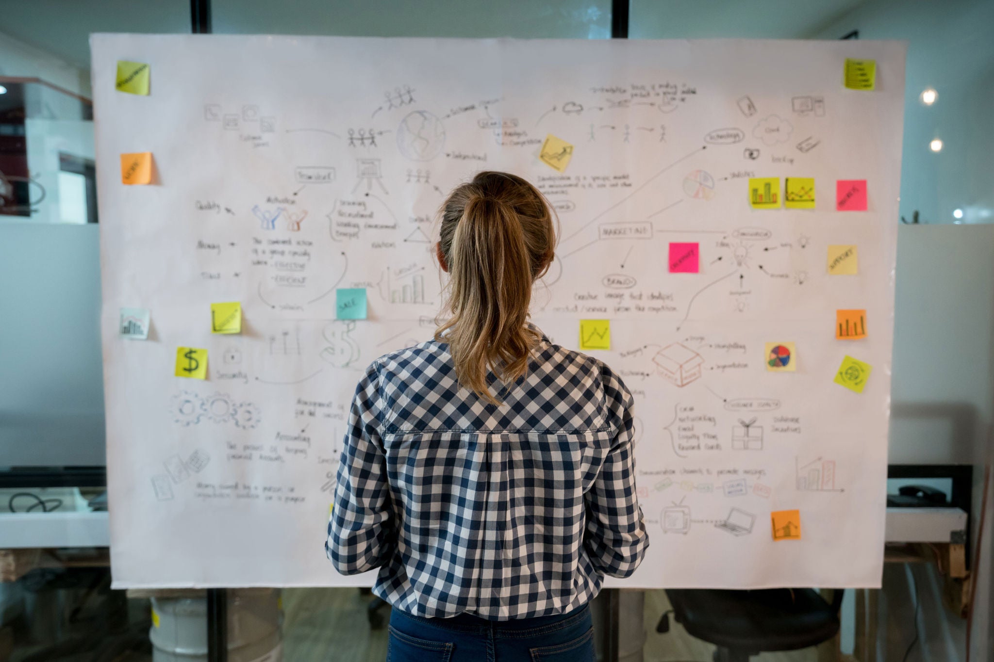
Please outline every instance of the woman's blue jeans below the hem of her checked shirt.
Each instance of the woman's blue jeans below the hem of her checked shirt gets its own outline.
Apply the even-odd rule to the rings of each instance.
[[[414,661],[594,662],[590,607],[518,620],[423,618],[394,609],[387,662]]]

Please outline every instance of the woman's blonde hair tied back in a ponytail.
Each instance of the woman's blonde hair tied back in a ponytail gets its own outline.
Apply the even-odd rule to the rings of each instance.
[[[487,373],[510,383],[528,369],[541,334],[526,326],[532,283],[553,259],[556,228],[539,190],[515,175],[483,172],[442,203],[439,247],[450,274],[435,331],[459,384],[484,400]]]

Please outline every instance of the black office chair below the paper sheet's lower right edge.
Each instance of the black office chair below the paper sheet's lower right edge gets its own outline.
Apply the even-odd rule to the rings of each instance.
[[[715,662],[748,662],[751,655],[815,646],[839,631],[845,592],[827,602],[813,589],[761,591],[667,590],[677,622],[718,646]],[[657,632],[669,630],[664,613]]]

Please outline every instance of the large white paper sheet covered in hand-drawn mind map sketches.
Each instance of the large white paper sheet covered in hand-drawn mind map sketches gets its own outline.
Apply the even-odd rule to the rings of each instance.
[[[95,37],[101,163],[154,164],[99,176],[115,586],[372,581],[323,553],[349,403],[431,336],[435,212],[484,169],[559,217],[533,320],[635,397],[624,585],[877,586],[903,80],[873,42]]]

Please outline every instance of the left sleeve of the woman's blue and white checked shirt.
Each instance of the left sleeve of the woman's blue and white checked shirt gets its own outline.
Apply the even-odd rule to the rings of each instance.
[[[352,400],[328,518],[325,553],[343,575],[383,565],[397,545],[381,436],[382,414],[379,365],[373,363]]]

